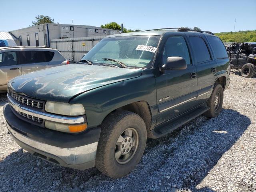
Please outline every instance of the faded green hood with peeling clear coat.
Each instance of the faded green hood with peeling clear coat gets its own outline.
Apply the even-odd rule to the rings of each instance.
[[[139,69],[69,64],[18,76],[10,80],[8,87],[32,98],[69,102],[77,94],[136,78],[141,73]]]

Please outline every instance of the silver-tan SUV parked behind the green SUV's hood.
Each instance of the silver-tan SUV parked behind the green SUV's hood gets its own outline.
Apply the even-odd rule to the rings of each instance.
[[[58,50],[46,47],[0,47],[0,92],[10,79],[36,70],[69,64]]]

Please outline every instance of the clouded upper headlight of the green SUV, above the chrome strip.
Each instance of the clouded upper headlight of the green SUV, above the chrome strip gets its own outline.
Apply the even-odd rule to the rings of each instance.
[[[82,104],[68,104],[68,103],[47,101],[45,104],[45,110],[50,113],[68,115],[68,116],[85,114],[84,106]]]

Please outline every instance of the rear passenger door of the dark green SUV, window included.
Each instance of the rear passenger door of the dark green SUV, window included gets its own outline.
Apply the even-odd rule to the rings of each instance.
[[[199,105],[206,102],[210,97],[212,85],[218,75],[218,67],[210,53],[210,48],[203,34],[198,36],[189,36],[189,42],[196,62],[198,90],[196,104]]]

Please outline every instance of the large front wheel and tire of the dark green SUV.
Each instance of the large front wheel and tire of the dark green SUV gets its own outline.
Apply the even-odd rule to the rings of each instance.
[[[126,176],[140,162],[146,140],[146,125],[140,116],[113,112],[102,123],[96,168],[111,178]]]

